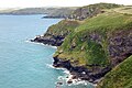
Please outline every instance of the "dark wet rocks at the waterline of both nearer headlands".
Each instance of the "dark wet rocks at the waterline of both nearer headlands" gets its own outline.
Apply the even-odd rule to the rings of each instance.
[[[43,43],[52,46],[59,46],[63,43],[61,38],[59,41],[56,41],[54,38],[47,38],[44,36],[36,36],[34,40],[31,40],[31,42]],[[62,61],[57,56],[53,58],[54,58],[53,66],[56,68],[66,68],[67,70],[69,70],[72,79],[86,80],[91,84],[98,84],[100,78],[111,70],[111,67],[106,67],[101,69],[98,74],[94,74],[86,66],[73,66],[70,64],[70,61]],[[72,79],[69,79],[67,84],[72,84],[73,82]]]

